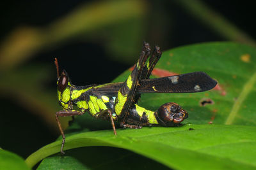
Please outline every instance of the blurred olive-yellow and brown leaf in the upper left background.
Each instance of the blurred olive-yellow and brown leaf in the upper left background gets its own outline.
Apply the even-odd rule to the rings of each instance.
[[[1,69],[10,69],[27,60],[35,52],[56,44],[63,44],[65,41],[79,38],[79,36],[84,36],[84,38],[89,36],[89,39],[100,38],[100,34],[97,34],[97,32],[102,32],[100,29],[119,27],[118,30],[122,31],[114,30],[115,33],[112,34],[113,37],[109,37],[109,41],[112,39],[115,41],[116,37],[120,39],[127,38],[129,41],[131,38],[125,36],[127,34],[124,34],[124,32],[141,32],[141,29],[136,26],[140,23],[132,23],[131,19],[139,20],[145,15],[146,9],[147,3],[143,3],[143,1],[101,1],[79,6],[67,16],[56,20],[47,27],[21,27],[13,31],[3,41],[3,46],[0,48],[0,67]],[[121,22],[121,24],[118,24],[118,22]],[[130,24],[135,27],[127,28]],[[109,25],[111,27],[108,27]],[[88,34],[93,34],[93,36],[90,37]],[[111,34],[111,32],[108,32],[108,34]],[[122,35],[124,37],[119,37]],[[132,40],[136,38],[137,41],[141,41],[138,38],[139,35],[135,34]]]

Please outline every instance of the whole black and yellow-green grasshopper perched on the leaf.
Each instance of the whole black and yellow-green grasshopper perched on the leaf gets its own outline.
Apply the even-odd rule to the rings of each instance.
[[[59,117],[83,115],[88,111],[95,118],[111,120],[114,134],[116,134],[114,121],[119,122],[120,127],[123,128],[137,129],[151,125],[171,127],[179,125],[187,118],[187,111],[177,103],[163,104],[156,111],[147,110],[137,104],[141,94],[204,92],[217,84],[203,72],[149,79],[160,57],[161,51],[158,46],[154,47],[150,55],[150,45],[144,42],[140,59],[127,80],[120,83],[86,86],[73,85],[65,70],[59,74],[58,62],[55,60],[58,73],[58,102],[63,108],[56,113],[63,138],[61,153],[64,153],[65,134]],[[79,110],[73,110],[74,105]]]

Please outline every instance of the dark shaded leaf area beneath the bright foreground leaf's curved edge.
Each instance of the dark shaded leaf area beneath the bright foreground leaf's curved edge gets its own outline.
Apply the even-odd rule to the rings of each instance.
[[[92,159],[92,157],[97,159]],[[147,162],[147,164],[142,162]],[[60,157],[60,154],[52,155],[43,160],[38,170],[74,169],[74,167],[76,169],[134,169],[135,165],[136,169],[169,169],[163,164],[128,150],[89,146],[68,150],[63,157]]]

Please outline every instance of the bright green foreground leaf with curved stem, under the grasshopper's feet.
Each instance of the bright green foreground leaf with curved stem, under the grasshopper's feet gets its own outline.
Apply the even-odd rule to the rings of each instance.
[[[189,131],[189,128],[193,130]],[[65,143],[65,149],[81,146],[113,146],[145,155],[176,169],[190,169],[195,166],[198,169],[205,169],[205,167],[252,169],[256,167],[254,159],[256,153],[252,152],[256,149],[255,131],[256,127],[236,125],[184,125],[176,128],[118,129],[117,136],[114,136],[111,130],[94,131],[70,136]],[[60,145],[61,141],[56,141],[44,146],[29,156],[26,162],[29,166],[33,166],[35,162],[60,152]],[[223,148],[231,152],[224,152]],[[84,155],[87,154],[84,152]],[[111,152],[109,155],[112,155]],[[67,156],[69,155],[67,154]],[[55,161],[61,164],[63,159],[56,157]],[[58,164],[56,163],[56,165]]]

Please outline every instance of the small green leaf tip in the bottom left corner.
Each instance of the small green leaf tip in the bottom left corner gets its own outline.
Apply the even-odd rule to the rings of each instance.
[[[29,169],[24,160],[15,153],[0,148],[0,169]]]

